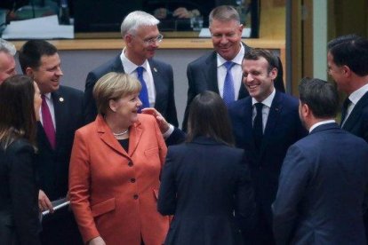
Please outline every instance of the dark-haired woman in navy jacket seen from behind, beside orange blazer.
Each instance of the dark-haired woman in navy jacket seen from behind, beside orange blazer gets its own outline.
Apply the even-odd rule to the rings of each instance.
[[[185,144],[170,146],[158,211],[174,215],[165,244],[242,244],[255,212],[244,151],[233,146],[228,111],[204,91],[190,106]]]

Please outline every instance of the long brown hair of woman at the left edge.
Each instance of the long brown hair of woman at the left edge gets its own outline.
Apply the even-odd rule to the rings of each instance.
[[[0,145],[6,148],[16,138],[36,146],[35,87],[27,75],[13,75],[0,85]]]

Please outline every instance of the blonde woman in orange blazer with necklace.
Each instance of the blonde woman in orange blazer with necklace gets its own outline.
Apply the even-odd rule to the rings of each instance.
[[[94,86],[99,115],[76,131],[69,193],[84,242],[163,244],[169,217],[156,209],[164,138],[152,115],[137,114],[140,82],[108,73]]]

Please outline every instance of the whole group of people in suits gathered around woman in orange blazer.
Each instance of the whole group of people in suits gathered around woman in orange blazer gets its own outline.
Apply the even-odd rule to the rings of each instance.
[[[334,83],[303,78],[295,98],[232,6],[209,16],[213,51],[188,64],[181,130],[153,15],[124,18],[123,51],[84,92],[60,85],[52,43],[24,43],[15,75],[0,39],[0,241],[366,244],[368,40],[327,43]]]

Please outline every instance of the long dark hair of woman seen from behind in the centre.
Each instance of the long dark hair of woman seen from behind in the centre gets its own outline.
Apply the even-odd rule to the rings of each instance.
[[[198,136],[234,145],[228,109],[220,95],[213,91],[197,94],[190,104],[187,142]]]

